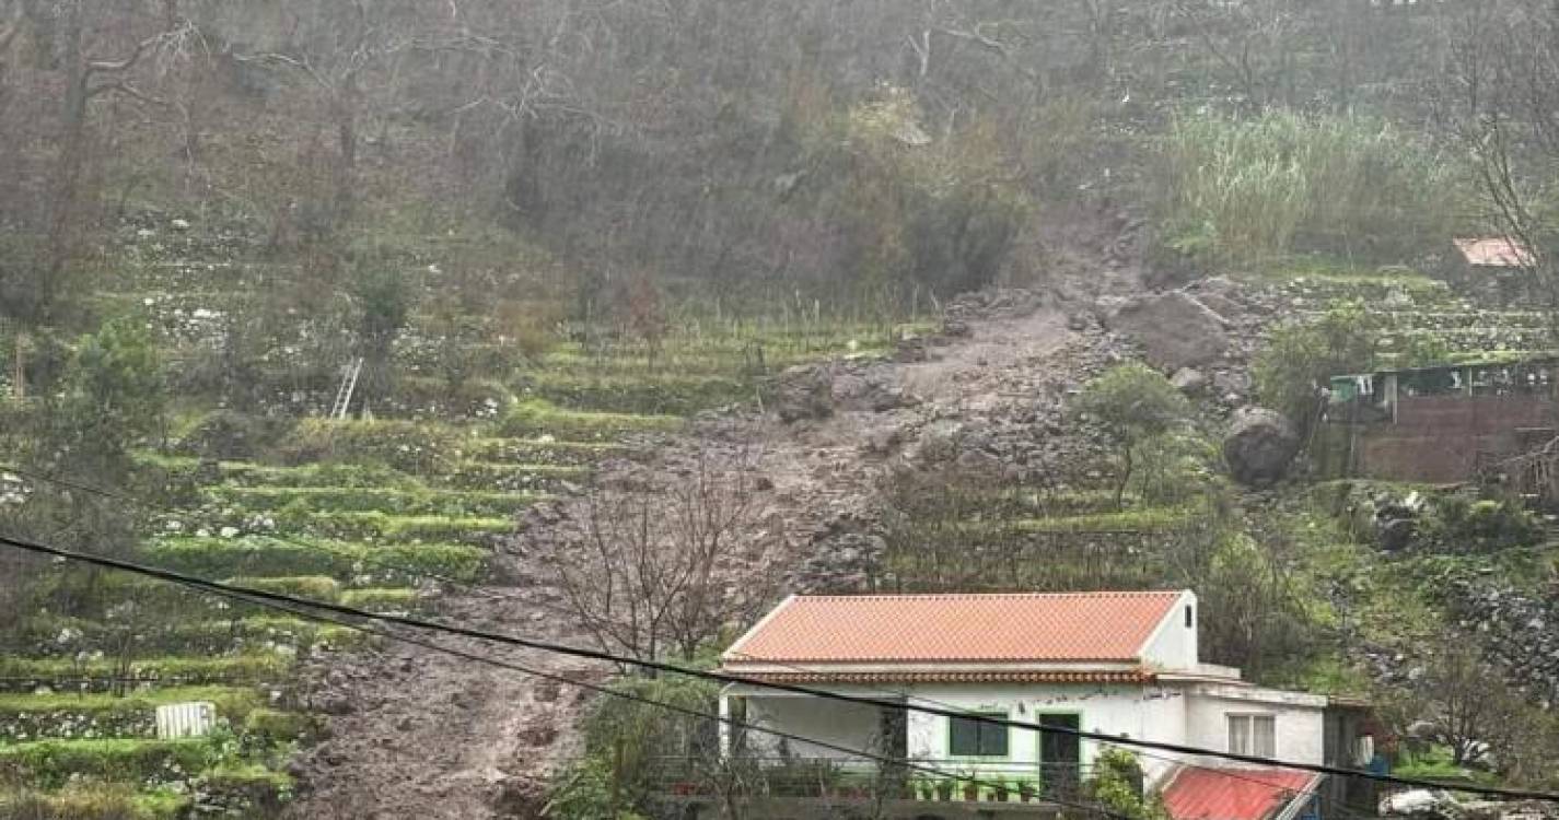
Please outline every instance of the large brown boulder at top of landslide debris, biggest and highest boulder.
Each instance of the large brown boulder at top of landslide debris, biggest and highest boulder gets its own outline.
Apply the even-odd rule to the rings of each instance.
[[[1224,318],[1190,293],[1175,290],[1127,299],[1105,326],[1143,346],[1143,355],[1165,373],[1216,362],[1228,352]]]

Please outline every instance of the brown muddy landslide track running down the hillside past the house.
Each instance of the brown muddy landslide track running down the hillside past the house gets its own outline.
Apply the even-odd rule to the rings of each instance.
[[[1087,334],[1068,330],[1060,312],[1026,293],[988,299],[974,309],[977,321],[967,321],[967,337],[932,345],[924,362],[842,365],[842,380],[900,391],[903,401],[890,402],[898,407],[845,401],[829,418],[797,424],[772,416],[705,419],[694,426],[697,444],[673,441],[647,468],[608,466],[605,480],[613,469],[638,471],[638,482],[677,480],[678,458],[711,441],[756,452],[756,471],[769,479],[764,516],[783,528],[786,541],[770,560],[806,563],[839,521],[870,514],[881,471],[907,457],[929,426],[956,419],[1032,427],[1040,410],[1054,407],[1091,362],[1080,354],[1090,349]],[[527,535],[499,557],[505,581],[455,591],[440,617],[586,645],[588,636],[564,614],[560,591],[549,586],[527,549],[553,522],[578,513],[569,504],[580,502],[533,511]],[[440,642],[588,680],[611,672],[567,658]],[[329,739],[296,765],[307,789],[290,812],[295,818],[535,817],[543,776],[577,751],[569,731],[585,702],[577,687],[402,644],[343,656],[318,672],[312,705],[334,717]]]

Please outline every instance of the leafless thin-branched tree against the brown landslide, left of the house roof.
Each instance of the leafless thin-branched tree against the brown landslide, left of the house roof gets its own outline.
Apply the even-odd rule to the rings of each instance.
[[[546,564],[596,641],[633,658],[692,658],[769,603],[776,533],[745,457],[703,447],[664,491],[594,488],[583,532]]]

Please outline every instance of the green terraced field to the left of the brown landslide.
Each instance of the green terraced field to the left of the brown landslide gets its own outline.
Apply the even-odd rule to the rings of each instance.
[[[274,273],[231,262],[228,240],[142,229],[125,240],[131,276],[98,301],[150,316],[170,369],[189,369]],[[190,260],[201,254],[220,260]],[[137,508],[137,558],[371,611],[432,610],[452,586],[483,581],[491,550],[527,508],[577,493],[603,460],[645,454],[694,412],[761,401],[783,366],[876,355],[923,327],[814,315],[688,320],[653,348],[558,338],[527,357],[472,343],[465,354],[502,366],[455,398],[435,374],[441,348],[427,323],[418,315],[398,343],[398,398],[376,405],[385,418],[318,418],[334,369],[296,368],[298,351],[262,362],[267,394],[285,396],[265,408],[274,435],[248,441],[242,458],[207,444],[221,415],[212,402],[184,402],[178,435],[139,452],[137,479],[122,488],[159,499]],[[337,341],[312,354],[340,352]],[[17,497],[58,491],[14,483]],[[287,762],[323,725],[299,691],[299,664],[369,638],[143,578],[45,572],[25,650],[0,655],[0,814],[268,817],[293,797]],[[181,703],[212,705],[214,731],[159,736],[157,708]]]

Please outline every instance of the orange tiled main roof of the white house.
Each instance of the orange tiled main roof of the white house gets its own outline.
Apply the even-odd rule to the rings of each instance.
[[[1138,659],[1180,592],[798,596],[726,663]]]

